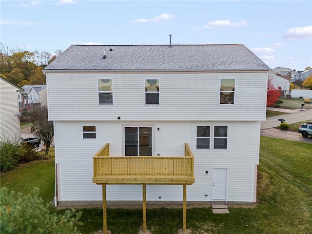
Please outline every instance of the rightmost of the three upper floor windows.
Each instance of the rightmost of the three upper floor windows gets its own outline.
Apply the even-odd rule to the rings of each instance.
[[[220,104],[234,104],[235,79],[220,79]]]

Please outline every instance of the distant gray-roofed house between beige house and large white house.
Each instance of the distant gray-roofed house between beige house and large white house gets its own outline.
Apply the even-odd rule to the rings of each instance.
[[[22,88],[25,91],[18,93],[20,113],[47,105],[46,85],[24,85]]]

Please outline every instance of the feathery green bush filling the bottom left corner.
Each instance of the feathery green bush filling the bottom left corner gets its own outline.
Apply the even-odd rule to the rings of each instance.
[[[22,234],[77,234],[81,212],[67,210],[62,215],[50,214],[51,205],[44,204],[38,189],[32,195],[0,190],[1,233]]]

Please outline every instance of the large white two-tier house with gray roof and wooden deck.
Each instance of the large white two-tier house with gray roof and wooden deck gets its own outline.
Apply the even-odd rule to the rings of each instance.
[[[268,71],[242,44],[70,46],[44,69],[58,204],[256,202]]]

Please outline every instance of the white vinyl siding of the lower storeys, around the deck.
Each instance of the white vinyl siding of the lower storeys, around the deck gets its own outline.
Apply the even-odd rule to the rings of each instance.
[[[81,126],[97,126],[97,140],[85,141]],[[60,200],[102,199],[92,183],[93,156],[110,143],[110,156],[123,155],[124,126],[154,126],[153,155],[184,156],[187,142],[195,156],[195,183],[187,186],[188,201],[211,201],[212,169],[227,168],[227,201],[254,202],[254,167],[258,164],[260,121],[56,121],[56,163]],[[227,150],[196,150],[196,126],[228,126]],[[157,130],[159,128],[159,131]],[[254,129],[254,131],[250,131]],[[205,173],[208,171],[208,175]],[[120,191],[123,191],[120,193]],[[207,196],[205,196],[207,195]],[[161,199],[158,199],[161,196]],[[108,185],[107,200],[141,200],[141,185]],[[147,185],[147,200],[181,201],[182,185]]]

